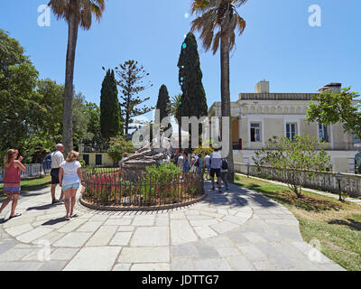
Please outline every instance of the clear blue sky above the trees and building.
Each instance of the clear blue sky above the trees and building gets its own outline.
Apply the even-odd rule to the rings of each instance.
[[[79,31],[74,85],[88,101],[99,104],[102,67],[134,59],[150,73],[153,88],[143,92],[154,106],[162,84],[180,93],[177,62],[184,34],[190,31],[190,0],[107,0],[101,23]],[[40,77],[63,83],[68,28],[51,14],[40,27],[38,6],[44,0],[0,2],[0,29],[23,45]],[[321,8],[321,27],[310,27],[309,6]],[[236,38],[231,58],[231,98],[254,92],[261,79],[272,92],[314,92],[329,82],[361,92],[361,1],[248,0],[238,9],[245,33]],[[198,34],[196,33],[198,37]],[[199,55],[208,106],[220,100],[219,54]]]

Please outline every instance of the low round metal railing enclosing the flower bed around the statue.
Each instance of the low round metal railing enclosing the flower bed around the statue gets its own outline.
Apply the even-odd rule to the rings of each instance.
[[[154,176],[139,173],[126,178],[119,168],[84,168],[82,199],[96,206],[143,208],[166,206],[199,199],[203,180],[197,173]]]

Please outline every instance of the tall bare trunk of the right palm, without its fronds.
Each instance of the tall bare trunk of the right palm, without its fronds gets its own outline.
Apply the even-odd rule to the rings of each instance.
[[[220,40],[220,66],[221,66],[221,111],[222,117],[229,117],[229,136],[228,136],[228,148],[229,153],[227,155],[228,161],[228,177],[233,181],[235,176],[234,163],[233,163],[233,138],[232,138],[232,121],[231,121],[231,98],[229,89],[229,42],[227,33],[222,29]],[[222,135],[224,135],[224,129],[222,129]],[[223,140],[222,140],[223,142]]]

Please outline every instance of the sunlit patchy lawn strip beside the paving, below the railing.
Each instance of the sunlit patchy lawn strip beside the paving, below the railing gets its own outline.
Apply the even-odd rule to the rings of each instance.
[[[303,191],[303,198],[298,199],[287,186],[239,174],[235,183],[281,203],[299,220],[305,242],[318,239],[321,252],[329,259],[349,271],[361,270],[360,205],[309,191]]]

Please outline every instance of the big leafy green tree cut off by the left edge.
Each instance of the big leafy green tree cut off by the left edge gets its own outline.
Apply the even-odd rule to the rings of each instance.
[[[0,30],[0,149],[19,147],[38,126],[38,71],[23,55],[23,47]]]

